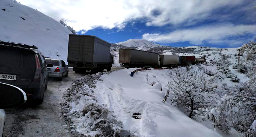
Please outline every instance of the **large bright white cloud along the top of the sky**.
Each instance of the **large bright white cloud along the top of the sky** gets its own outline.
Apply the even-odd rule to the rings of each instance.
[[[243,0],[19,0],[20,3],[59,20],[64,18],[76,31],[124,28],[125,23],[146,19],[148,26],[194,24],[220,7]]]

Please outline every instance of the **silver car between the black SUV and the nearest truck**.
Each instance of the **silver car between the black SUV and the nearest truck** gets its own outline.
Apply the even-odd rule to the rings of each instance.
[[[62,80],[63,77],[68,76],[68,67],[63,60],[45,58],[46,64],[53,64],[53,67],[47,67],[49,77],[56,77]]]

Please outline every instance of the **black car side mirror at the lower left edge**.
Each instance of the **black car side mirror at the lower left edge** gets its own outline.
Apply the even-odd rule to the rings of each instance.
[[[0,82],[0,109],[16,107],[26,101],[27,95],[22,89]]]

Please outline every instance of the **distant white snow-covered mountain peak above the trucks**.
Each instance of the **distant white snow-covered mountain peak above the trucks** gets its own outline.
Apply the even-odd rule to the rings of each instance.
[[[129,39],[125,42],[118,42],[117,45],[122,45],[126,47],[141,47],[141,46],[150,46],[150,47],[162,47],[163,45],[156,44],[145,39]]]

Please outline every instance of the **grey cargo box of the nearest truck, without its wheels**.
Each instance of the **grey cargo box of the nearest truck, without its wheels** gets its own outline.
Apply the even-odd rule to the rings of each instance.
[[[110,43],[95,36],[69,34],[68,61],[108,64]]]

